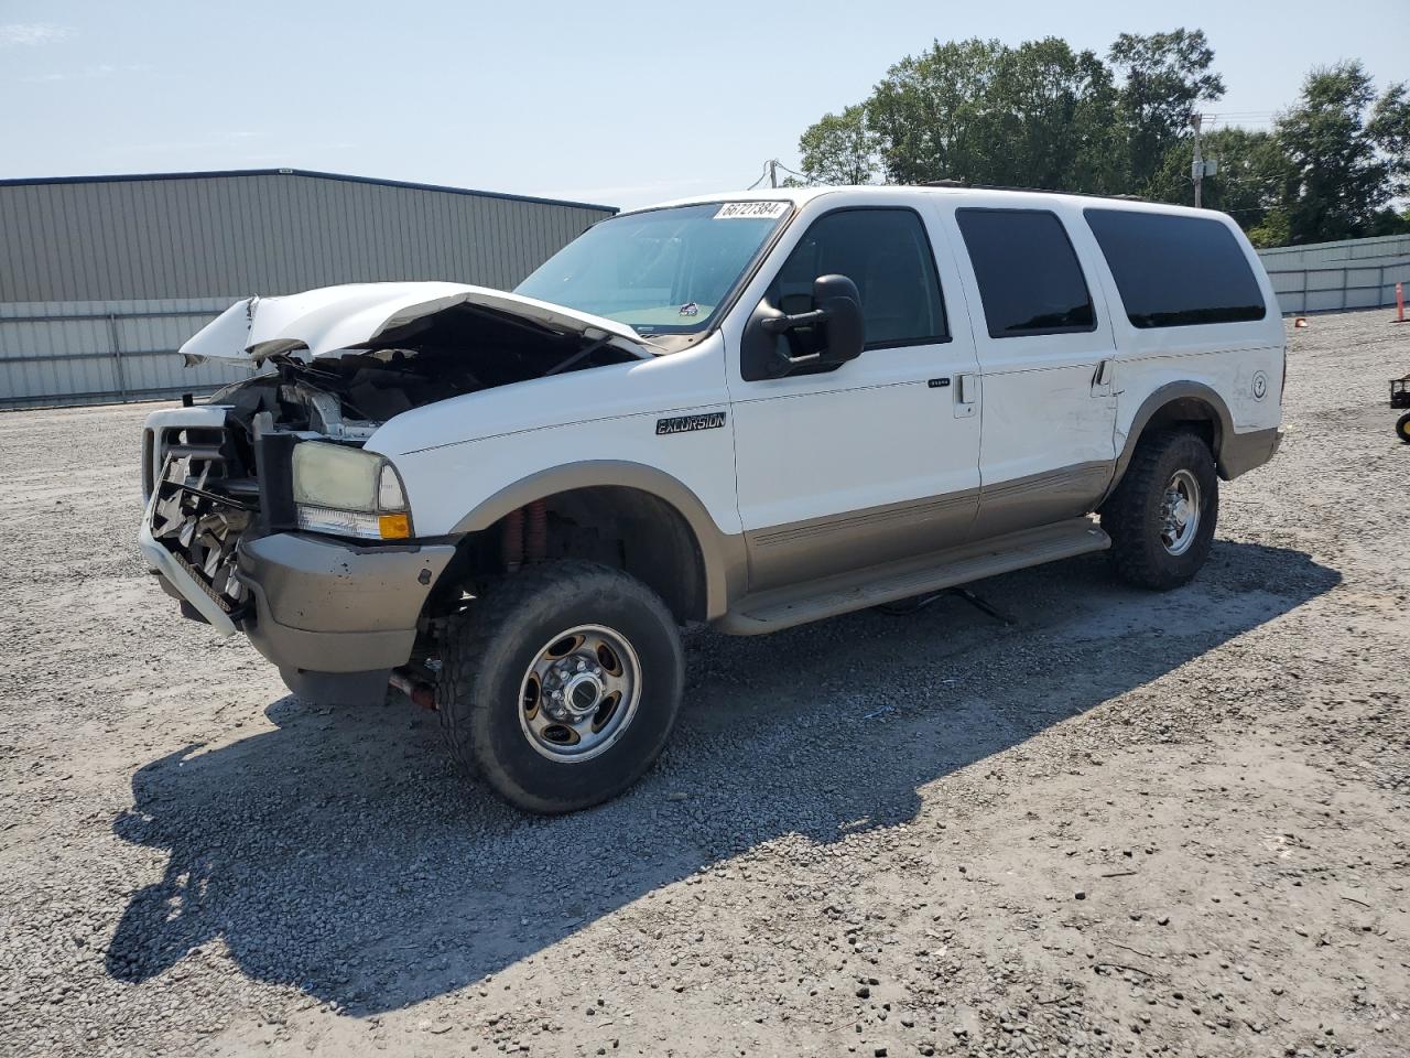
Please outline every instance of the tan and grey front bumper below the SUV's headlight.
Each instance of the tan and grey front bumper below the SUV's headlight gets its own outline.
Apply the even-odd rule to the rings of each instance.
[[[303,533],[241,540],[235,578],[250,591],[255,649],[290,673],[371,673],[406,664],[450,545],[368,547]],[[292,681],[290,681],[292,686]]]

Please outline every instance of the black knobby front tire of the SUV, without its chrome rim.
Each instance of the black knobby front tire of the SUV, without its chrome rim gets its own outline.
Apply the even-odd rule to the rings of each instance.
[[[520,688],[546,642],[589,624],[615,629],[636,650],[640,698],[598,756],[553,760],[523,731]],[[450,619],[436,707],[462,767],[515,807],[557,815],[616,797],[656,762],[675,722],[684,670],[680,629],[656,592],[611,566],[554,561],[484,587]]]

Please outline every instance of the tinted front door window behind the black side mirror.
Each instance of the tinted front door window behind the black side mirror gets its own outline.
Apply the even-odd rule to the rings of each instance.
[[[842,209],[819,217],[766,299],[787,313],[808,312],[819,275],[845,275],[857,285],[866,348],[949,341],[935,254],[915,210]]]

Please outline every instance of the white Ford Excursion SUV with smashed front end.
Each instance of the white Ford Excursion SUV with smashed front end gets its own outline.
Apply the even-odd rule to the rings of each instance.
[[[560,813],[651,765],[688,621],[1104,549],[1184,584],[1220,478],[1277,447],[1285,336],[1218,213],[839,188],[623,213],[513,293],[252,298],[182,351],[268,367],[147,422],[141,546],[183,612],[300,697],[391,681]]]

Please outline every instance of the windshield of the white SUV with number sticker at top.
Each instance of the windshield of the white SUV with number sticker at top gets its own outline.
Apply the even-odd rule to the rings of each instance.
[[[515,293],[643,336],[701,332],[791,209],[711,202],[612,217],[550,257]]]

